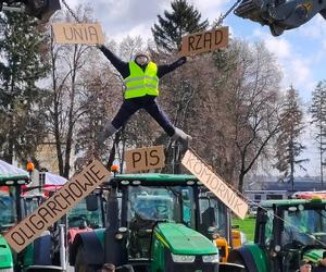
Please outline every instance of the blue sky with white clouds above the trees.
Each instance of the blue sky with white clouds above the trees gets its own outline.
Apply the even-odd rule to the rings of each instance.
[[[90,3],[95,17],[101,23],[106,37],[122,40],[127,35],[151,38],[150,27],[156,22],[156,15],[171,9],[170,0],[66,0],[74,7],[76,3]],[[226,12],[234,1],[229,0],[188,0],[212,23],[221,13]],[[261,26],[249,20],[235,16],[233,13],[224,21],[230,27],[233,37],[248,41],[263,40],[272,51],[283,70],[281,87],[291,84],[300,91],[302,102],[309,106],[311,92],[318,81],[326,79],[326,21],[316,15],[300,28],[285,32],[273,37],[267,26]],[[308,116],[306,116],[308,118]],[[318,173],[317,151],[310,139],[311,127],[303,136],[308,145],[305,157],[311,159],[306,164],[309,174]]]

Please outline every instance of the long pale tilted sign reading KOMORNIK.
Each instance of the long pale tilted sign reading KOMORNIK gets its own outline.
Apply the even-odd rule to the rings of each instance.
[[[188,150],[181,163],[234,213],[241,219],[244,218],[249,208],[248,203],[218,175],[214,174],[195,153]]]

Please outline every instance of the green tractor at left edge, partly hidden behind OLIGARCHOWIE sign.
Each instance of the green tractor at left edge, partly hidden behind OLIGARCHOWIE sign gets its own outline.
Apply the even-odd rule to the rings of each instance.
[[[4,234],[10,227],[18,224],[30,212],[32,206],[37,207],[39,198],[28,201],[22,196],[23,185],[29,183],[28,175],[0,176],[0,231]],[[37,202],[35,202],[37,199]],[[28,208],[29,207],[29,208]],[[64,250],[64,228],[60,226],[61,251]],[[65,264],[54,263],[53,235],[46,231],[40,237],[29,244],[23,251],[11,250],[7,240],[0,234],[0,271],[1,272],[35,272],[65,271]],[[55,265],[53,265],[55,264]]]

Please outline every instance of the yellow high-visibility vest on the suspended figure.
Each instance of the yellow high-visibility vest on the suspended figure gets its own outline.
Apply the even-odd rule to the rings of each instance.
[[[155,63],[149,62],[143,72],[135,61],[130,61],[129,71],[130,75],[124,79],[125,99],[146,95],[159,96],[158,65]]]

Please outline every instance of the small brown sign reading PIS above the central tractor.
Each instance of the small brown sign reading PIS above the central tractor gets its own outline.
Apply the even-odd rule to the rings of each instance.
[[[161,169],[165,165],[163,146],[137,148],[125,152],[126,173]]]

